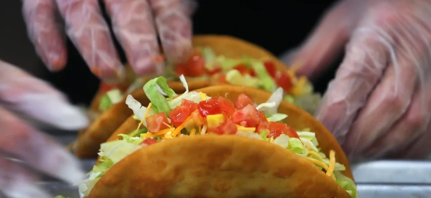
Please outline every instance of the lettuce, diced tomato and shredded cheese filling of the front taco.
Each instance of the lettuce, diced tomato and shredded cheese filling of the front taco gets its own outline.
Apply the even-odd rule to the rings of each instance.
[[[331,150],[326,156],[319,148],[315,133],[307,129],[295,131],[283,123],[288,115],[277,113],[283,98],[282,88],[278,88],[267,102],[255,104],[245,94],[231,102],[223,97],[211,98],[202,92],[189,92],[183,75],[180,80],[186,92],[175,99],[175,93],[164,77],[145,84],[144,92],[151,101],[147,107],[131,95],[127,96],[126,104],[133,110],[135,119],[141,122],[129,134],[120,134],[122,140],[101,145],[98,154],[102,162],[95,165],[88,179],[79,184],[80,194],[89,195],[110,167],[139,148],[173,138],[217,134],[266,141],[306,157],[336,180],[352,198],[358,198],[355,183],[340,173],[345,167],[335,161],[335,152]]]

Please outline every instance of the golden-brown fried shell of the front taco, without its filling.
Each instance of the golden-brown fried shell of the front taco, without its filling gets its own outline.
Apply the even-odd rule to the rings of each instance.
[[[234,100],[244,93],[263,103],[270,93],[248,87],[212,86],[196,90],[210,97]],[[148,104],[142,103],[143,105]],[[341,173],[352,179],[347,157],[332,134],[313,116],[282,101],[279,113],[294,129],[315,132],[322,152],[334,150]],[[135,130],[129,117],[108,139]],[[133,127],[134,125],[134,127]],[[236,135],[174,138],[141,148],[114,164],[96,183],[88,198],[262,197],[350,198],[336,181],[315,164],[280,146]]]

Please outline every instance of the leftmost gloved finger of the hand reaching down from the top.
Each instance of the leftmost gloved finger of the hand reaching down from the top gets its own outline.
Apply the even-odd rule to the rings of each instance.
[[[30,41],[48,69],[58,71],[67,61],[64,35],[57,26],[54,0],[24,0],[22,13]]]

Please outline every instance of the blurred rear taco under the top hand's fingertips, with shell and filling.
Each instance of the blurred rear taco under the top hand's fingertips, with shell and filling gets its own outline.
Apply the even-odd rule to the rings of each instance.
[[[313,114],[321,95],[305,76],[296,76],[300,65],[288,68],[268,50],[244,40],[225,35],[196,35],[195,52],[187,61],[171,64],[178,76],[188,82],[208,80],[212,85],[231,84],[274,92],[285,92],[284,100]]]

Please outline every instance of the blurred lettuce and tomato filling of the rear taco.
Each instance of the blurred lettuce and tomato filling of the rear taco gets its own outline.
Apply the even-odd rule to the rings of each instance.
[[[216,55],[209,47],[197,48],[184,62],[171,65],[177,75],[187,78],[209,79],[218,84],[231,84],[274,92],[278,87],[285,92],[284,100],[314,113],[321,96],[313,93],[313,85],[305,76],[297,77],[295,69],[287,72],[276,69],[271,60],[247,56],[228,58]]]

